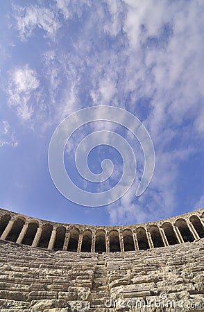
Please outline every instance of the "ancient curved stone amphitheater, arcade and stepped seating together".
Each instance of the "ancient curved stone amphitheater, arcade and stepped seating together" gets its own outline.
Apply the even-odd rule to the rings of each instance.
[[[0,311],[204,311],[204,209],[121,227],[0,210]]]

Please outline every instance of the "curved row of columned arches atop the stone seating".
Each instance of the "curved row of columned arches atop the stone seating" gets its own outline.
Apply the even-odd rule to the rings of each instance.
[[[67,231],[65,226],[53,227],[51,223],[40,225],[37,220],[30,222],[22,216],[11,218],[4,214],[0,218],[0,239],[31,245],[50,250],[67,250],[71,252],[120,252],[148,250],[178,243],[192,242],[204,237],[204,216],[193,215],[189,220],[178,218],[175,223],[164,222],[160,227],[150,225],[148,228],[104,229],[92,232],[91,229],[73,227]]]

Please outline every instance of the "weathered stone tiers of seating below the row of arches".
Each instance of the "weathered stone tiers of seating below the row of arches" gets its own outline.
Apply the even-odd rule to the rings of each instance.
[[[204,311],[203,243],[98,254],[0,241],[0,311]]]

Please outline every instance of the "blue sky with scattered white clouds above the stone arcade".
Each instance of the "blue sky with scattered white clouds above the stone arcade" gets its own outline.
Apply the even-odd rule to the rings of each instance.
[[[121,225],[204,206],[203,0],[7,0],[0,12],[2,208],[63,223]],[[47,153],[54,130],[69,114],[94,105],[128,110],[151,135],[155,172],[139,198],[142,148],[109,122],[78,130],[67,143],[65,166],[83,189],[114,185],[122,168],[116,150],[100,146],[90,154],[94,173],[112,157],[114,175],[101,187],[78,177],[74,152],[93,130],[117,131],[137,158],[126,195],[105,207],[81,207],[51,180]]]

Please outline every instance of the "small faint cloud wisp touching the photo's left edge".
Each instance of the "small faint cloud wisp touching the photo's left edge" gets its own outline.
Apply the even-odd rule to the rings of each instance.
[[[19,144],[15,132],[11,130],[8,121],[0,121],[0,148],[4,145],[16,147]]]

